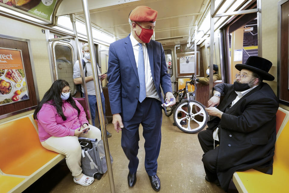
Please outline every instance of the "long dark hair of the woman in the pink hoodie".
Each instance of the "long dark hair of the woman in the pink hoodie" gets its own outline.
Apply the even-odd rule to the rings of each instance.
[[[66,116],[64,116],[63,110],[62,110],[63,100],[61,99],[60,95],[61,95],[62,89],[66,86],[69,87],[69,84],[65,80],[58,79],[58,80],[54,81],[54,83],[51,85],[51,87],[48,89],[48,91],[44,94],[43,99],[40,101],[39,105],[36,107],[34,114],[33,114],[33,118],[38,120],[38,118],[37,118],[38,112],[42,108],[43,104],[47,103],[47,104],[55,106],[56,110],[57,110],[57,114],[59,116],[61,116],[62,119],[65,121]],[[70,105],[74,109],[77,110],[78,115],[79,115],[80,109],[76,106],[76,103],[73,100],[71,94],[69,95],[69,98],[66,101],[68,103],[70,103]]]

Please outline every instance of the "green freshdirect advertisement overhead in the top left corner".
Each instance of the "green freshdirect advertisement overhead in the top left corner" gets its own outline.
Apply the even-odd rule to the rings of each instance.
[[[58,0],[0,0],[1,3],[50,21],[57,1]]]

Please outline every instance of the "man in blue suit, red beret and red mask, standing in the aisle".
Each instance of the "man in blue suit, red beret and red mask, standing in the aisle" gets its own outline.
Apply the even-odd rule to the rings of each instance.
[[[160,190],[157,158],[160,152],[162,107],[160,86],[167,102],[172,94],[170,75],[161,43],[151,40],[157,11],[139,6],[129,14],[131,33],[110,44],[108,93],[114,129],[121,135],[121,146],[129,159],[129,187],[135,185],[138,168],[138,127],[143,126],[145,169],[155,191]]]

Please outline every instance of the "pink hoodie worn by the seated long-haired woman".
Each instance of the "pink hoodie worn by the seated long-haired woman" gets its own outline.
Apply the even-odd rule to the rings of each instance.
[[[88,124],[86,120],[85,111],[79,102],[74,99],[76,106],[80,109],[80,114],[74,109],[66,100],[62,106],[66,120],[57,114],[56,107],[50,104],[43,104],[38,112],[36,120],[38,122],[38,135],[40,142],[45,141],[51,136],[65,137],[73,136],[74,130],[79,128],[84,123]]]

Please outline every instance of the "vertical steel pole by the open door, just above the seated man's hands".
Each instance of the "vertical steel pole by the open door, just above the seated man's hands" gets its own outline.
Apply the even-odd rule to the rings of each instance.
[[[212,17],[215,11],[215,0],[211,0],[211,28],[210,28],[210,98],[213,96],[213,59],[214,59],[214,24],[215,18]]]

